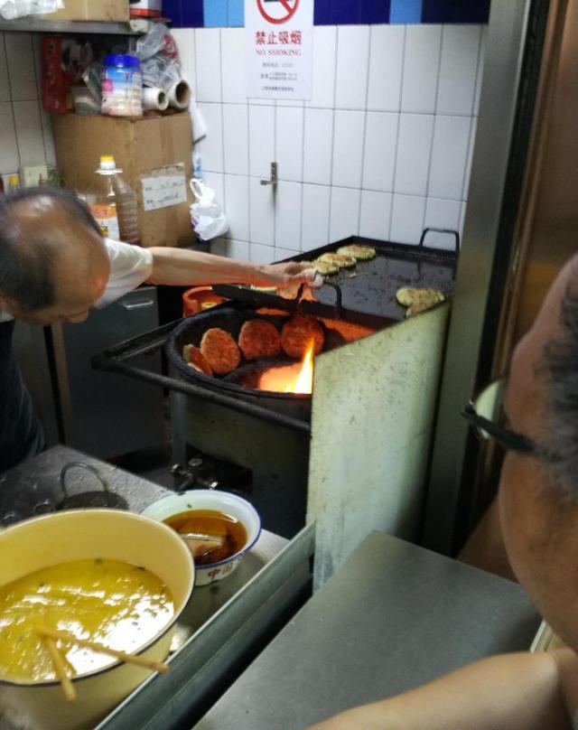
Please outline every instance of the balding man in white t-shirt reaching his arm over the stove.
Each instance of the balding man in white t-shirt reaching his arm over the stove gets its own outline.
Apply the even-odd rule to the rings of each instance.
[[[0,474],[43,447],[42,426],[16,367],[14,318],[79,323],[143,282],[165,285],[313,284],[305,264],[255,265],[182,248],[103,239],[70,191],[28,188],[0,199]]]

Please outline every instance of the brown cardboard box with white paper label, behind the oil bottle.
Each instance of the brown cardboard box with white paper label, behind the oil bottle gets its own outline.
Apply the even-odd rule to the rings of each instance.
[[[61,114],[53,115],[52,120],[57,164],[66,187],[89,191],[97,179],[100,155],[114,154],[117,167],[137,193],[141,245],[183,246],[194,240],[189,212],[192,130],[188,112],[135,119]],[[178,184],[181,170],[184,190]],[[156,198],[150,194],[152,182]],[[180,195],[186,201],[173,204]],[[158,205],[166,207],[145,210]]]

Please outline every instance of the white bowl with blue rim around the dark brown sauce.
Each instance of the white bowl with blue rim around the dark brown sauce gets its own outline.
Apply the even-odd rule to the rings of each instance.
[[[261,518],[258,512],[247,500],[230,494],[228,491],[210,489],[196,489],[184,491],[182,494],[174,494],[170,497],[163,497],[162,500],[150,504],[141,514],[144,517],[158,519],[163,522],[173,515],[188,510],[219,510],[230,515],[245,526],[247,530],[247,542],[238,553],[228,557],[226,560],[219,560],[217,563],[207,563],[200,566],[195,563],[195,585],[209,585],[216,580],[222,580],[238,567],[241,559],[256,543],[261,534]]]

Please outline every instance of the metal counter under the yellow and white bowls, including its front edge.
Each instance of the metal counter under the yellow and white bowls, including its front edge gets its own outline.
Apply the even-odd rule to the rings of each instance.
[[[50,511],[49,507],[54,510],[62,497],[61,468],[70,462],[97,469],[109,491],[135,512],[172,493],[57,446],[0,477],[0,523],[33,517]],[[100,489],[91,473],[69,474],[71,492]],[[172,642],[171,671],[152,675],[98,728],[172,730],[199,719],[311,594],[313,547],[312,527],[291,543],[263,530],[232,576],[194,588]],[[0,730],[14,727],[0,716]]]

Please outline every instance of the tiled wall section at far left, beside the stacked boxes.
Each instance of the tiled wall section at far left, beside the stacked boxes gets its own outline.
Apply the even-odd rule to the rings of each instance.
[[[34,38],[34,43],[38,40]],[[50,115],[42,111],[40,57],[29,33],[0,33],[0,174],[55,164]]]

